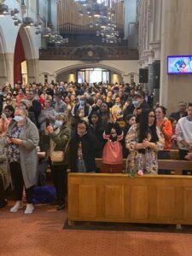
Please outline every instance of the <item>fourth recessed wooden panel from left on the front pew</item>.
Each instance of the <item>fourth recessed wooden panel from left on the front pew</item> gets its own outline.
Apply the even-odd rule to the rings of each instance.
[[[172,187],[157,189],[157,218],[173,218],[175,207],[175,190]]]

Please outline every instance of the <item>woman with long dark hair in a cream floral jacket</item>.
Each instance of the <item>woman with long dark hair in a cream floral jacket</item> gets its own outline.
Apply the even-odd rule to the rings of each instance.
[[[143,111],[139,122],[131,126],[125,137],[126,148],[130,151],[128,171],[157,174],[157,152],[164,147],[164,143],[165,139],[156,126],[154,110]]]

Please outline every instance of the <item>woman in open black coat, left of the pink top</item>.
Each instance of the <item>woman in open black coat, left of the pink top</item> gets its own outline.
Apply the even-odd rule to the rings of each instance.
[[[88,129],[84,120],[77,124],[70,143],[70,166],[72,172],[96,172],[95,152],[100,143]]]

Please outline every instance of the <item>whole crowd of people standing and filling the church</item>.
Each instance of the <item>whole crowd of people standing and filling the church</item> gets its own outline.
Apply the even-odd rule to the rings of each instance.
[[[15,206],[32,213],[32,190],[46,183],[49,166],[57,210],[66,206],[67,172],[167,174],[158,159],[192,160],[192,103],[179,102],[166,117],[139,84],[15,84],[0,91],[0,207],[6,189],[15,189]],[[7,156],[7,157],[6,157]],[[102,167],[96,166],[102,159]],[[123,159],[127,159],[126,169]]]

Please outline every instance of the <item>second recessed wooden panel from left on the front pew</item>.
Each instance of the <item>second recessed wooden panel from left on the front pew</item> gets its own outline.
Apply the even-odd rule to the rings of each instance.
[[[124,188],[121,185],[106,185],[105,216],[108,218],[123,218],[124,215]]]

